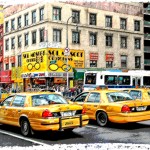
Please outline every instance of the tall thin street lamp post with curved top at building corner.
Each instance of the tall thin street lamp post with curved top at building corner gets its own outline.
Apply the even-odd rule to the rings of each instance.
[[[67,20],[67,24],[66,24],[66,48],[68,48],[68,22],[69,20],[74,17],[74,16],[70,16]],[[70,52],[67,54],[67,69],[66,69],[66,72],[67,72],[67,90],[69,89],[69,77],[68,77],[68,56],[70,55]]]

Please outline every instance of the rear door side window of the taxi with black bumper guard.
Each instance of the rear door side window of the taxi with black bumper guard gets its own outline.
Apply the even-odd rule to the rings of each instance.
[[[25,99],[26,99],[26,96],[17,95],[17,96],[15,97],[15,99],[13,100],[13,102],[12,102],[12,106],[15,106],[15,107],[23,107],[23,106],[24,106]]]

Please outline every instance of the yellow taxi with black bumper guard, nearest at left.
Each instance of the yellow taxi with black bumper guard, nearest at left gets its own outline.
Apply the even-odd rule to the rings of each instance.
[[[0,123],[20,127],[24,136],[34,131],[72,131],[88,122],[82,106],[69,104],[54,92],[13,93],[0,103]]]

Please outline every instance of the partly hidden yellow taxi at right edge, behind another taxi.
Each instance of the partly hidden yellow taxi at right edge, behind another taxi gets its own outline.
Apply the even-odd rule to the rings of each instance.
[[[150,88],[134,88],[124,91],[129,93],[134,99],[150,100]]]

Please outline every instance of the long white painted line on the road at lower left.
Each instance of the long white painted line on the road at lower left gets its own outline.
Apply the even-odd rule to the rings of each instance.
[[[2,130],[0,130],[0,133],[6,134],[6,135],[10,135],[10,136],[13,136],[13,137],[16,137],[16,138],[18,138],[18,139],[25,140],[25,141],[28,141],[28,142],[36,143],[36,144],[39,144],[39,145],[49,146],[48,144],[45,144],[45,143],[42,143],[42,142],[38,142],[38,141],[29,139],[29,138],[26,138],[26,137],[23,137],[23,136],[14,135],[14,134],[11,134],[11,133],[2,131]]]

